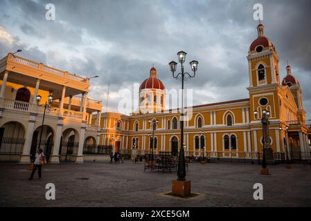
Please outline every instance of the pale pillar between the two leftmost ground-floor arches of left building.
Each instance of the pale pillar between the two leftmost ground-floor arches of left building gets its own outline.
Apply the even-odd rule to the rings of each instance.
[[[30,113],[28,127],[26,131],[26,139],[24,143],[23,153],[21,154],[21,160],[19,164],[29,164],[30,163],[30,148],[31,142],[33,141],[33,128],[35,126],[35,116],[37,114]]]

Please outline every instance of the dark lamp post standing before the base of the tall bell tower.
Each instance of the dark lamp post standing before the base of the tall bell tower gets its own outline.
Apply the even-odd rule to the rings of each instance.
[[[258,116],[258,111],[254,111],[254,115]],[[269,111],[263,110],[261,114],[261,123],[263,124],[263,160],[262,160],[262,169],[260,169],[261,174],[268,175],[269,170],[267,169],[265,149],[270,145],[271,140],[269,137]]]

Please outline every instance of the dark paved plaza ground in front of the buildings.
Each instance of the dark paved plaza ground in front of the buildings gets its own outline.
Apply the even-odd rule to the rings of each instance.
[[[143,171],[134,164],[85,163],[44,166],[43,177],[28,180],[28,165],[0,164],[0,206],[311,206],[311,165],[242,163],[189,164],[195,198],[163,195],[175,172]],[[46,200],[46,183],[55,184],[56,199]],[[263,200],[254,200],[253,185],[263,184]]]

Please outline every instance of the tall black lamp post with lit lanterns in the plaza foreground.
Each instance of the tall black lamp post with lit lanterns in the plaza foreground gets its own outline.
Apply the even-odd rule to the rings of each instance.
[[[184,80],[185,77],[191,78],[195,77],[195,71],[197,70],[197,64],[199,62],[193,60],[190,61],[191,69],[193,70],[193,75],[190,75],[189,73],[184,72],[184,62],[186,61],[186,55],[187,53],[184,51],[179,51],[177,53],[179,63],[181,64],[181,72],[177,75],[175,74],[175,71],[177,69],[177,62],[170,61],[170,71],[172,72],[172,77],[175,79],[178,79],[179,75],[181,77],[181,125],[180,125],[180,151],[179,151],[179,160],[178,160],[178,169],[177,169],[177,181],[185,182],[186,181],[186,163],[185,163],[185,153],[184,153]],[[187,79],[188,79],[187,78]],[[190,182],[188,182],[188,191],[182,194],[189,195],[190,194]],[[184,188],[185,186],[183,186]],[[172,183],[172,192],[174,192],[174,181]],[[178,194],[177,192],[175,192]],[[174,194],[174,193],[173,193]]]

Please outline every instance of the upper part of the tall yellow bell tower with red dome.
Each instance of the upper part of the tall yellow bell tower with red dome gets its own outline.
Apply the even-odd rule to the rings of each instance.
[[[261,118],[263,110],[270,113],[270,118],[278,117],[276,90],[280,86],[278,54],[272,41],[265,36],[265,26],[257,26],[257,38],[251,43],[247,56],[249,64],[249,100],[251,120]]]

